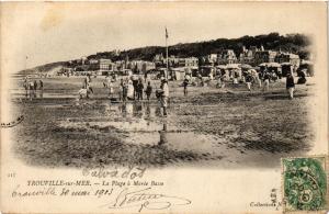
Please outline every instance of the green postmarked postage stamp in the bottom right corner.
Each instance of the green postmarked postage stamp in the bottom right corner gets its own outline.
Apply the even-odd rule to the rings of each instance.
[[[328,210],[327,157],[283,158],[284,212]]]

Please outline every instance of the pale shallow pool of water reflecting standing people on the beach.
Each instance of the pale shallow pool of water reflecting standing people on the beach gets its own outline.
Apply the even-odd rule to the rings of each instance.
[[[160,109],[156,105],[141,103],[104,104],[107,116],[86,120],[67,119],[59,121],[58,126],[67,129],[84,128],[124,132],[123,142],[135,145],[163,145],[178,150],[209,151],[214,144],[224,139],[213,135],[196,133],[193,129],[179,127],[172,117],[161,117]]]

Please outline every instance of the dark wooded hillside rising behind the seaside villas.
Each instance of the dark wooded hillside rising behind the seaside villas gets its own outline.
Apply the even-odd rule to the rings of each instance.
[[[242,50],[242,46],[249,48],[250,46],[263,46],[265,49],[272,50],[283,50],[290,52],[299,55],[302,59],[308,59],[309,57],[309,48],[311,45],[311,40],[304,34],[287,34],[280,35],[279,33],[270,33],[264,35],[257,36],[242,36],[239,38],[218,38],[212,40],[207,42],[195,42],[195,43],[180,43],[175,45],[169,46],[169,55],[174,55],[177,57],[202,57],[208,54],[218,54],[224,49],[234,49],[237,56]],[[94,55],[90,55],[88,59],[100,59],[107,58],[112,60],[133,60],[133,59],[141,59],[141,60],[152,60],[154,56],[157,54],[163,54],[164,56],[166,48],[163,46],[148,46],[148,47],[139,47],[128,50],[122,50],[120,53],[116,52],[103,52],[97,53]],[[68,61],[57,61],[53,64],[47,64],[44,66],[38,66],[34,69],[30,69],[30,71],[38,71],[44,72],[53,67],[58,65],[66,66],[75,66],[78,64],[78,60]]]

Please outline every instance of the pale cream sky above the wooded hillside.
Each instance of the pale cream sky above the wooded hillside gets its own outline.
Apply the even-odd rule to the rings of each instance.
[[[164,46],[166,26],[169,45],[271,32],[309,34],[321,8],[300,2],[7,2],[1,3],[1,54],[16,71],[97,52]]]

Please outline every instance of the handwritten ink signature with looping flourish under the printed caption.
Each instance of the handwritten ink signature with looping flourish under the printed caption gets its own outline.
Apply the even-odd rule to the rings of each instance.
[[[125,188],[118,193],[114,202],[101,205],[101,207],[138,207],[138,212],[141,212],[143,210],[164,210],[175,205],[188,205],[192,203],[184,198],[149,193],[149,190],[151,190],[151,188],[145,188],[137,191],[129,191],[128,188]]]

